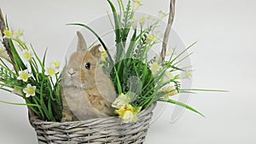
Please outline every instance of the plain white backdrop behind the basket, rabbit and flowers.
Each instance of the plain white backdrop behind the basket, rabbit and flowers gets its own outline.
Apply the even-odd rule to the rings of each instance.
[[[140,9],[149,14],[168,10],[168,0],[144,0]],[[185,111],[170,123],[168,108],[151,125],[146,144],[254,144],[256,142],[255,62],[256,2],[253,0],[177,1],[173,28],[185,45],[199,41],[190,57],[195,72],[194,87],[228,89],[229,93],[199,92],[189,105],[207,118]],[[110,11],[104,0],[0,0],[11,27],[21,28],[27,42],[48,60],[62,60],[65,49],[84,22]],[[3,91],[0,100],[23,102]],[[169,105],[172,107],[172,105]],[[36,135],[28,123],[26,107],[0,103],[0,143],[35,144]]]

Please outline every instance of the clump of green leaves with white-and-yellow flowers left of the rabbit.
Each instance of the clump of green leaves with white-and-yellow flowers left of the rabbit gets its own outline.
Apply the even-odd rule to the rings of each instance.
[[[32,44],[23,42],[23,33],[13,33],[7,18],[1,29],[0,89],[13,92],[26,101],[25,105],[39,118],[61,121],[61,73],[59,62],[45,66],[46,50],[41,60]]]

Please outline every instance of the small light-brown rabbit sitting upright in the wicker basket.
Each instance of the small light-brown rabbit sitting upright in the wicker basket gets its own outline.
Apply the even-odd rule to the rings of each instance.
[[[87,49],[84,37],[78,35],[77,51],[63,71],[62,122],[113,116],[112,102],[116,92],[112,81],[99,67],[100,44]]]

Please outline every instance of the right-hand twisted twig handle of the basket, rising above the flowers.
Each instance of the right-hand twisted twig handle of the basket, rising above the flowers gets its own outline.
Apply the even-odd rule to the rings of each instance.
[[[166,47],[170,37],[172,23],[175,15],[175,3],[176,3],[176,0],[170,0],[170,12],[169,12],[168,24],[166,26],[165,36],[162,43],[162,50],[160,53],[160,62],[163,62],[166,58]]]

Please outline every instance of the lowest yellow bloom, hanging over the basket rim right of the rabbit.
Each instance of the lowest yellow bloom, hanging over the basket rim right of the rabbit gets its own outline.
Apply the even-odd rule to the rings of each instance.
[[[132,107],[130,104],[126,104],[125,107],[121,107],[119,110],[115,110],[115,113],[119,114],[119,118],[122,118],[121,124],[135,123],[137,122],[137,113],[140,112],[142,107]]]

